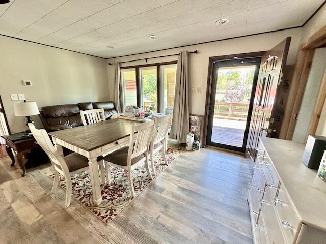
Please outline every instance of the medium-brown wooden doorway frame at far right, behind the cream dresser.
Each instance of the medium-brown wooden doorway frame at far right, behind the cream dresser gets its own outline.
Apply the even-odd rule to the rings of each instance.
[[[290,85],[290,91],[287,100],[288,102],[286,104],[284,112],[282,129],[279,135],[280,139],[292,140],[294,129],[296,126],[297,116],[301,108],[302,99],[310,74],[315,49],[319,47],[325,47],[325,45],[326,25],[320,28],[316,33],[311,35],[307,39],[307,41],[302,43],[299,47],[295,60],[292,82]],[[326,99],[326,96],[324,94],[325,90],[326,73],[324,72],[324,77],[319,89],[319,94],[317,95],[317,101],[310,118],[306,140],[309,134],[316,133],[322,107]]]

